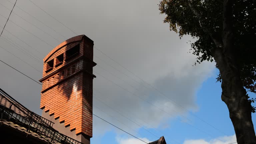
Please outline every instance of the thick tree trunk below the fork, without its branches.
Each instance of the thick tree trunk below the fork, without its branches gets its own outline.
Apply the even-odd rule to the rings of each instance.
[[[214,59],[222,78],[222,95],[229,110],[238,144],[256,144],[256,136],[252,123],[252,106],[248,101],[246,90],[240,79],[240,73],[231,53],[223,54],[222,48],[217,48]]]

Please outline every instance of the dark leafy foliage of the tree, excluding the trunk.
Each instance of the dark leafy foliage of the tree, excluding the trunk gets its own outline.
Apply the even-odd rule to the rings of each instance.
[[[189,3],[199,11],[196,16]],[[240,69],[243,86],[256,93],[256,0],[234,0],[232,5],[232,26],[234,47]],[[223,0],[162,0],[159,4],[161,14],[166,14],[165,23],[170,30],[183,35],[191,35],[196,42],[191,50],[197,55],[196,63],[213,62],[213,50],[216,48],[212,35],[221,35],[223,28]],[[218,65],[216,65],[218,68]],[[217,77],[221,81],[221,75]],[[250,100],[254,102],[253,99]]]

